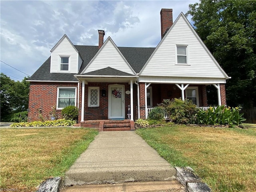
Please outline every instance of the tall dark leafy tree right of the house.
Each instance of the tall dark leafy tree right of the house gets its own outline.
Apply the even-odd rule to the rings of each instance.
[[[256,1],[201,0],[190,4],[196,32],[231,76],[227,104],[256,106]]]

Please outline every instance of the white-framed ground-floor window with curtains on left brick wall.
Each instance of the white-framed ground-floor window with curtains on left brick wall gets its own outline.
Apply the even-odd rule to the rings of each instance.
[[[76,87],[58,87],[57,109],[76,106]]]

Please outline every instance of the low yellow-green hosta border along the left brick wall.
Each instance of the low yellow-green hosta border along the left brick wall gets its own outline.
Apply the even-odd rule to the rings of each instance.
[[[32,121],[13,123],[10,127],[55,127],[55,126],[72,126],[76,124],[76,120],[59,119],[53,121]]]

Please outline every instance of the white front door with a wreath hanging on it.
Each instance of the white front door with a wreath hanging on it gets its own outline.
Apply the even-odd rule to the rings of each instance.
[[[110,85],[108,87],[108,118],[124,119],[124,86]]]

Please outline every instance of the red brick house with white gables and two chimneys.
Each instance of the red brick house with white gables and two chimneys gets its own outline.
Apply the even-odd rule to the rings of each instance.
[[[208,106],[210,84],[218,104],[226,104],[229,77],[184,14],[172,22],[172,9],[162,9],[160,17],[156,48],[118,47],[110,37],[104,41],[104,30],[98,30],[98,46],[74,45],[64,35],[28,80],[29,120],[38,120],[39,113],[49,119],[53,109],[61,116],[69,105],[78,107],[78,123],[87,126],[127,119],[128,108],[131,121],[145,119],[163,99],[188,98]]]

